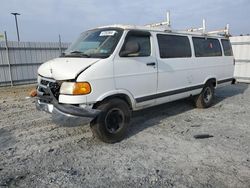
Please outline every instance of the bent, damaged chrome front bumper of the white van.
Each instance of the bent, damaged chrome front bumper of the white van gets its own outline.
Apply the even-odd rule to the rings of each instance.
[[[80,108],[68,104],[45,103],[41,99],[36,102],[37,110],[45,111],[52,115],[52,120],[62,126],[78,126],[89,123],[99,113],[99,110]]]

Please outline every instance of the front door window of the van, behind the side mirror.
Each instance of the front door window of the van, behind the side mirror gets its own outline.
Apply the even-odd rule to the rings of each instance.
[[[127,44],[129,45],[138,45],[138,52],[133,54],[122,55],[124,51],[126,51]],[[151,44],[150,44],[150,33],[143,31],[129,31],[123,47],[120,51],[121,57],[145,57],[151,55]]]

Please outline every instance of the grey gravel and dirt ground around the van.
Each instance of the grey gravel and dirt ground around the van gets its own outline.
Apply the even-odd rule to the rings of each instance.
[[[53,124],[30,88],[0,88],[0,187],[250,187],[246,84],[218,89],[209,109],[182,100],[137,112],[113,145]]]

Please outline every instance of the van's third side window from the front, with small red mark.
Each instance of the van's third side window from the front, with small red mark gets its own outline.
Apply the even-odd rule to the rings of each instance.
[[[196,57],[222,56],[218,39],[193,37]]]

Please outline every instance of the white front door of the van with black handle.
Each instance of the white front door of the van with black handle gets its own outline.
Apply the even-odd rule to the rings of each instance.
[[[121,39],[124,42],[125,35]],[[150,37],[151,44],[154,43]],[[117,52],[121,50],[121,45]],[[157,64],[155,56],[155,45],[151,45],[151,55],[147,57],[120,57],[116,53],[114,57],[114,80],[115,89],[124,90],[134,99],[153,95],[157,91]],[[155,63],[155,66],[147,66],[147,63]],[[155,100],[137,103],[136,108],[154,105]]]

